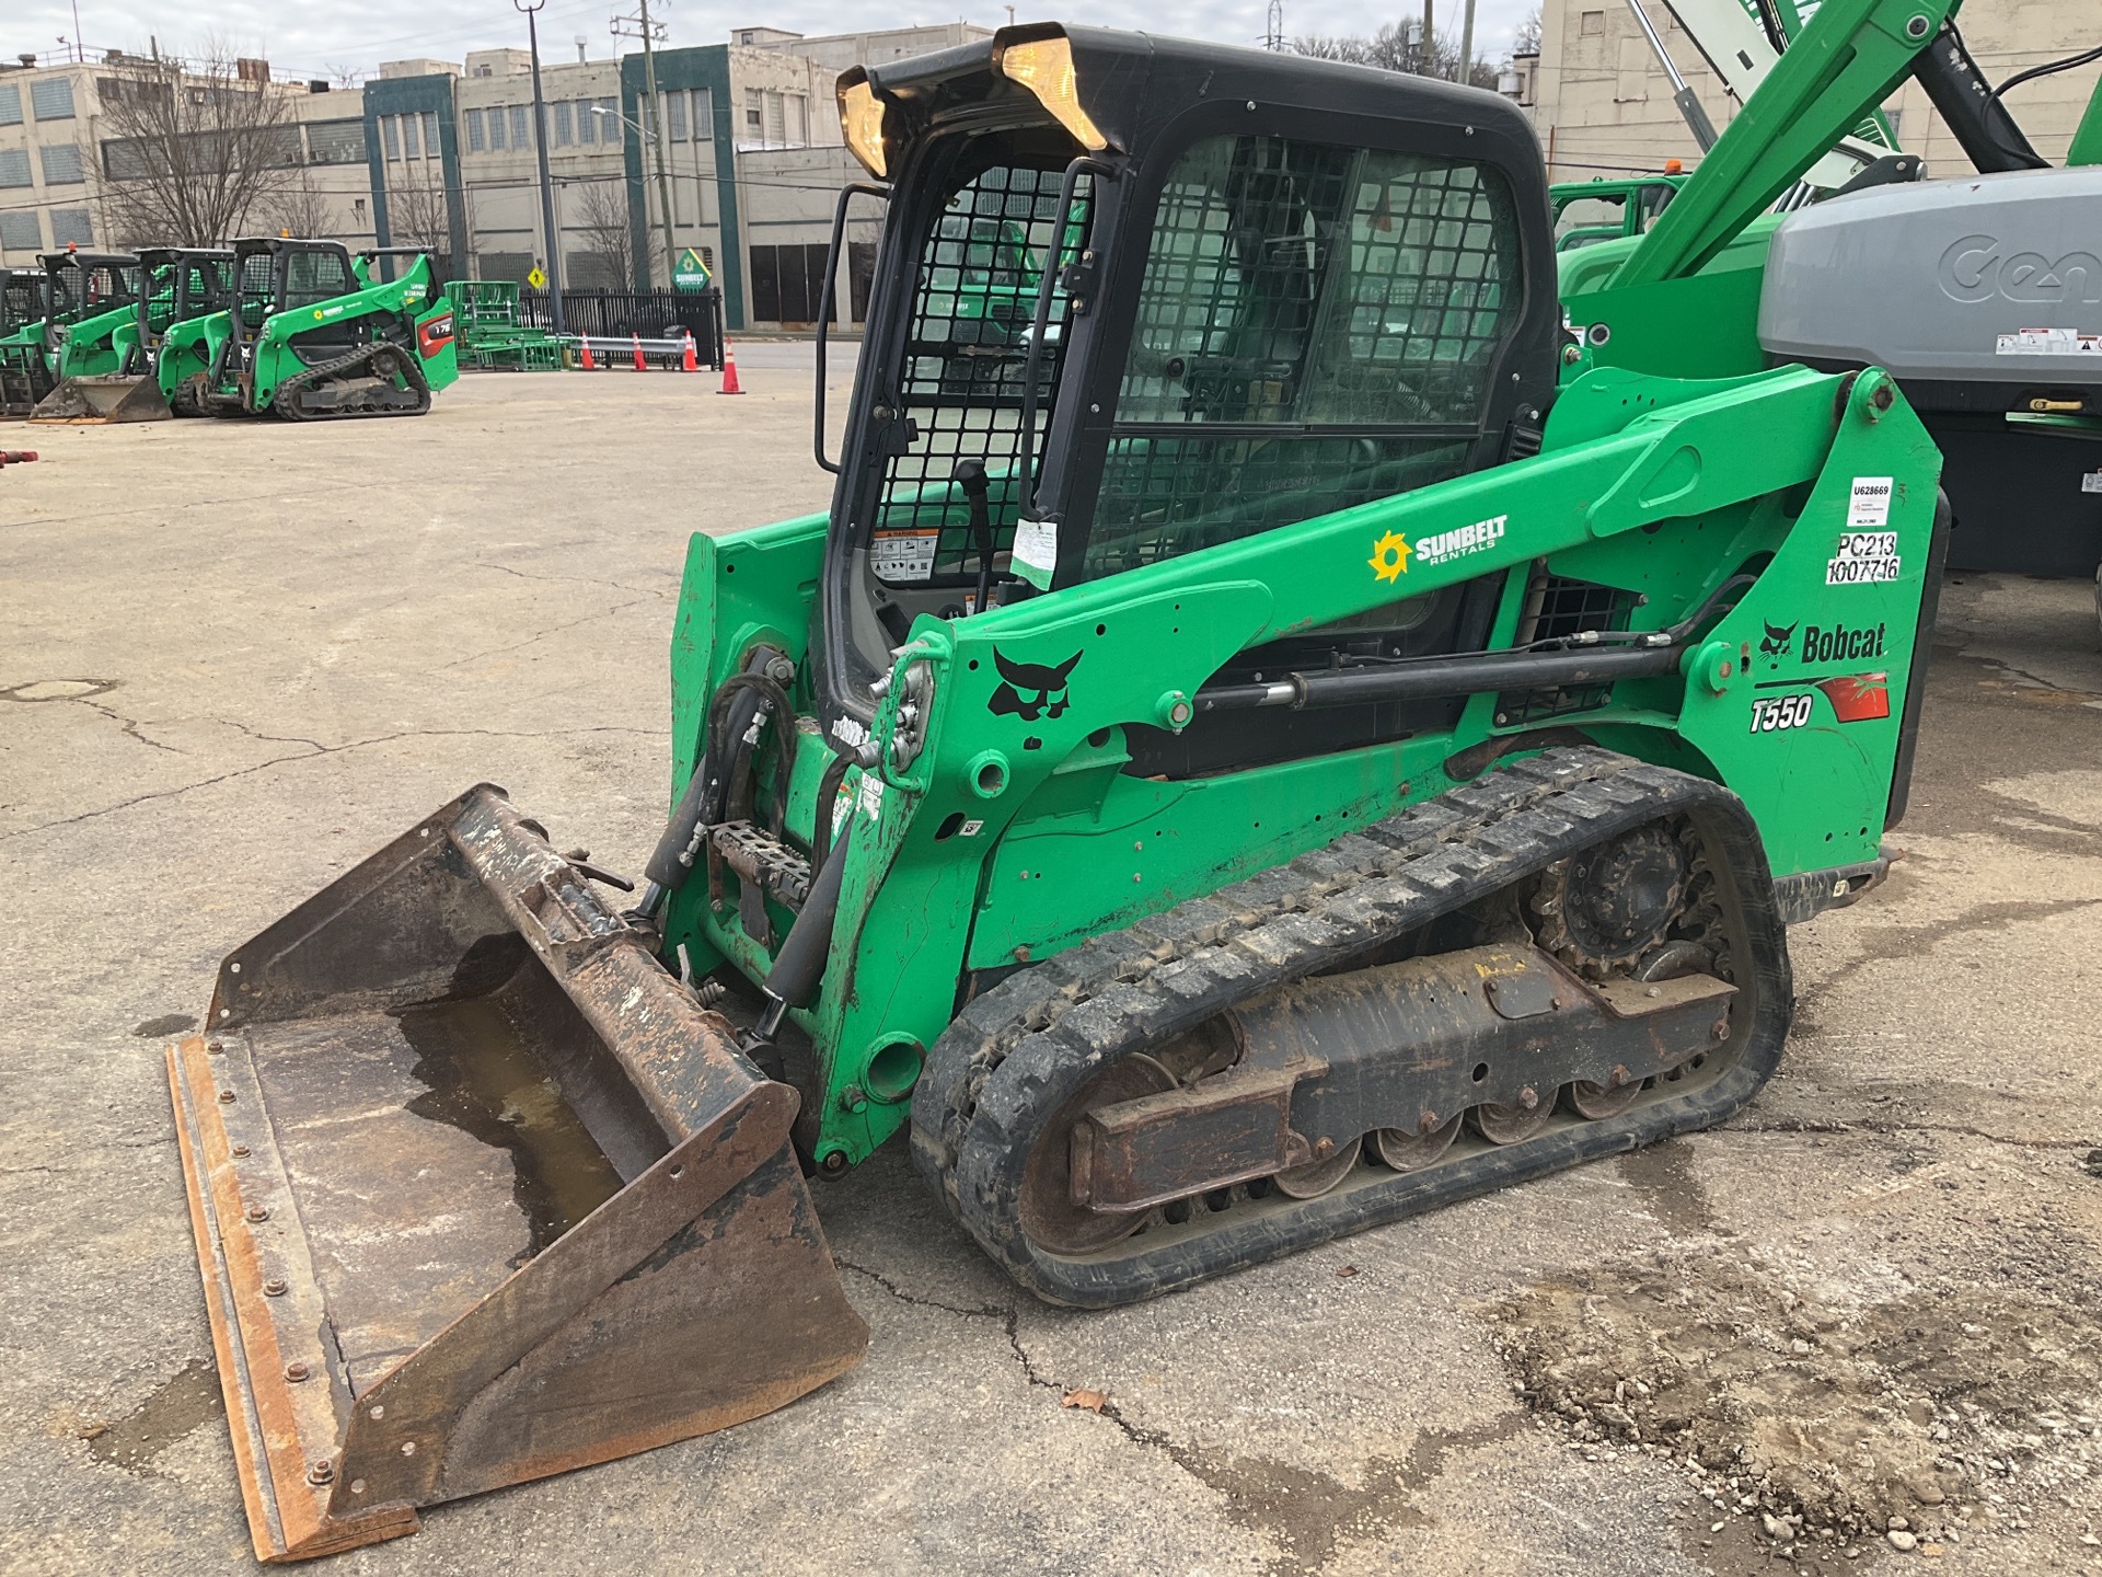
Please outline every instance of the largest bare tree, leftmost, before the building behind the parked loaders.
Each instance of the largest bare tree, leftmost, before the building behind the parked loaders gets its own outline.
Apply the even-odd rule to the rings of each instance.
[[[208,46],[202,61],[126,57],[103,82],[97,196],[130,244],[214,246],[248,229],[256,204],[303,179],[292,95],[269,67]]]

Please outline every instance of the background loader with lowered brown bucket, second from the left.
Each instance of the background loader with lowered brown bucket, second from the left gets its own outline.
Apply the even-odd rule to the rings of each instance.
[[[168,292],[164,269],[132,252],[46,252],[46,353],[55,387],[29,412],[36,423],[101,427],[166,421],[168,402],[141,374],[143,324]]]

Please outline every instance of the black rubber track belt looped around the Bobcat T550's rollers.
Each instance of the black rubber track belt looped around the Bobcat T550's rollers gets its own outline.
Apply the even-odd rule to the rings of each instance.
[[[1314,1201],[1249,1203],[1211,1230],[1148,1228],[1089,1257],[1019,1228],[1028,1152],[1101,1066],[1280,984],[1347,963],[1553,860],[1661,816],[1692,816],[1740,990],[1707,1074],[1621,1117],[1354,1175]],[[1787,934],[1757,828],[1730,791],[1593,746],[1547,751],[1324,849],[1009,976],[935,1041],[912,1100],[912,1154],[956,1220],[1024,1287],[1108,1308],[1263,1264],[1381,1222],[1722,1121],[1766,1083],[1793,1013]],[[1749,1011],[1747,1011],[1749,1009]]]

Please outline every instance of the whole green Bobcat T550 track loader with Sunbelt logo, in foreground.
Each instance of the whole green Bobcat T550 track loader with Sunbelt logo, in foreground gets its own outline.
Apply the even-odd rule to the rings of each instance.
[[[1888,376],[1566,362],[1488,93],[1024,25],[839,103],[832,507],[692,538],[641,894],[477,784],[170,1049],[267,1560],[856,1365],[805,1175],[885,1142],[1104,1308],[1722,1121],[1885,871],[1946,526]],[[959,389],[977,219],[1036,296]]]

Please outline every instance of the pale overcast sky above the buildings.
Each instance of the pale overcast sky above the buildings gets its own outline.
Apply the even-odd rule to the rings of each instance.
[[[618,11],[633,13],[633,0],[547,0],[540,13],[542,59],[576,59],[576,40],[584,38],[591,59],[607,59],[614,40],[607,21]],[[904,23],[942,23],[961,15],[988,27],[1007,21],[1007,6],[971,6],[961,13],[912,8],[898,0],[847,0],[818,4],[816,0],[668,0],[652,2],[652,15],[671,25],[673,44],[721,44],[731,27],[790,27],[801,34],[845,34]],[[1438,2],[1438,27],[1459,25],[1461,0]],[[61,38],[71,40],[71,0],[6,0],[0,25],[0,57],[21,53],[63,55]],[[1532,0],[1478,0],[1476,50],[1499,59],[1509,46],[1518,19],[1532,11]],[[1379,0],[1284,0],[1284,32],[1299,34],[1371,34],[1398,15],[1415,13],[1410,0],[1402,11]],[[145,48],[151,38],[170,53],[202,53],[204,32],[235,46],[240,55],[261,55],[286,76],[334,76],[353,71],[372,76],[380,61],[410,55],[431,55],[458,61],[469,48],[498,48],[526,42],[526,19],[504,0],[465,0],[465,4],[431,6],[429,0],[210,0],[210,4],[156,4],[153,0],[80,0],[78,38],[90,53],[107,48]],[[1022,21],[1047,15],[1059,21],[1131,25],[1129,0],[1072,0],[1055,11],[1019,6]],[[1146,21],[1154,32],[1215,38],[1228,44],[1253,44],[1263,36],[1268,0],[1154,0]],[[622,48],[633,48],[624,44]]]

